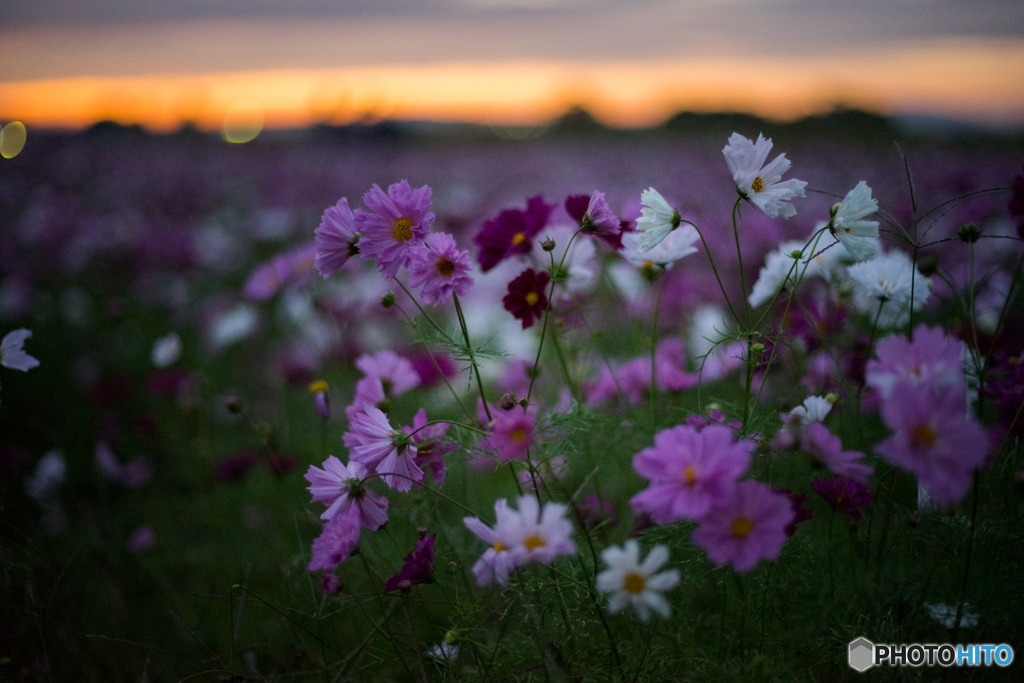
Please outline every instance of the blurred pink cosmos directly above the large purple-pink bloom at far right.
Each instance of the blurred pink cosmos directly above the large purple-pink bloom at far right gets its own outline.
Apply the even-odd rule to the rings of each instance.
[[[899,380],[914,385],[927,385],[936,392],[964,392],[962,354],[964,344],[947,337],[941,328],[919,326],[913,341],[902,335],[891,335],[879,342],[878,360],[868,360],[864,383],[889,398]]]

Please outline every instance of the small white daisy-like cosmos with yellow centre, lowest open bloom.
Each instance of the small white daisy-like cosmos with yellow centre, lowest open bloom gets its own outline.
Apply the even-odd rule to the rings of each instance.
[[[633,605],[644,622],[650,618],[651,610],[664,618],[669,617],[671,609],[662,593],[675,588],[680,577],[678,569],[657,573],[669,561],[668,546],[654,546],[640,562],[640,545],[630,540],[623,548],[605,548],[601,551],[601,559],[608,568],[597,574],[597,589],[611,594],[609,612],[615,613]]]

